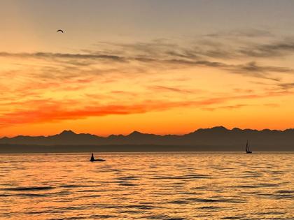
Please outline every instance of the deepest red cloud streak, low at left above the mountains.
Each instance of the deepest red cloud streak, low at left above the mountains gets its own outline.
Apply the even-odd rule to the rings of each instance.
[[[31,124],[42,122],[59,122],[68,119],[84,119],[106,115],[130,115],[156,110],[166,110],[179,106],[180,103],[148,101],[133,105],[89,105],[84,108],[69,110],[59,103],[42,105],[34,110],[18,110],[1,115],[1,127],[14,124]]]

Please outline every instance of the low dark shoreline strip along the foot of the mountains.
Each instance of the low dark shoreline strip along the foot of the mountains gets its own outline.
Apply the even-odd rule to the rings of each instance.
[[[243,146],[235,145],[0,145],[0,154],[22,153],[83,153],[83,152],[244,152]],[[272,148],[271,148],[272,149]],[[253,148],[253,152],[294,152],[289,146],[279,150],[267,146]]]

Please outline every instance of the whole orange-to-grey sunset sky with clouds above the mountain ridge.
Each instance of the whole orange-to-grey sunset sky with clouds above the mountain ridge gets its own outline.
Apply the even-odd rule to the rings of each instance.
[[[293,9],[0,0],[0,137],[294,128]]]

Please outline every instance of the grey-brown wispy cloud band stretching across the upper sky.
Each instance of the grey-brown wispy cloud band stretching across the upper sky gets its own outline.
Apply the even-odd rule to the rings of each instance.
[[[268,34],[263,30],[235,31],[244,36]],[[247,33],[247,35],[246,35]],[[216,68],[228,73],[237,73],[255,78],[279,81],[276,73],[293,73],[293,69],[284,66],[263,66],[258,61],[246,61],[251,57],[268,57],[274,54],[294,51],[294,41],[263,45],[237,45],[232,47],[223,42],[201,40],[190,43],[174,43],[168,39],[155,39],[151,42],[100,43],[105,48],[86,50],[85,53],[10,53],[0,52],[0,57],[20,57],[23,59],[43,59],[48,64],[38,66],[31,74],[36,78],[52,80],[76,78],[82,75],[102,75],[120,73],[147,74],[150,70],[186,68],[202,66]],[[239,49],[240,47],[241,49]],[[236,64],[235,59],[243,63]],[[22,64],[25,65],[25,64]]]

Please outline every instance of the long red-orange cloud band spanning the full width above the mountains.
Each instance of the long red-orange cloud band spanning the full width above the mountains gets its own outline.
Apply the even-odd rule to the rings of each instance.
[[[165,111],[173,108],[202,108],[205,110],[213,110],[208,108],[209,105],[227,103],[235,100],[250,100],[257,98],[267,98],[272,96],[282,96],[285,94],[293,94],[290,91],[268,92],[265,94],[248,94],[237,96],[221,96],[216,98],[202,98],[198,101],[162,101],[162,100],[146,100],[141,103],[132,104],[94,104],[91,100],[87,100],[89,105],[79,107],[80,103],[74,100],[69,101],[52,101],[52,100],[36,100],[22,103],[15,103],[19,106],[13,112],[0,114],[0,127],[13,126],[15,124],[34,124],[43,122],[59,122],[63,120],[85,119],[87,117],[102,117],[106,115],[132,115],[154,111]],[[77,107],[78,106],[78,107]],[[241,108],[246,105],[225,105],[221,108],[233,109]],[[26,108],[25,108],[26,107]]]

